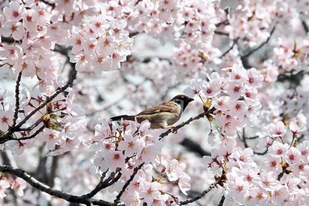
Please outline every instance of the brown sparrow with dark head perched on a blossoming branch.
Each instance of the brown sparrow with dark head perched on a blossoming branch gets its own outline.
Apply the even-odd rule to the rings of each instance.
[[[180,94],[168,102],[164,102],[162,104],[146,109],[137,115],[120,115],[112,117],[110,120],[135,121],[136,119],[138,123],[148,120],[151,123],[151,129],[174,128],[172,125],[180,119],[184,109],[188,106],[189,102],[193,100],[194,99],[188,97],[185,94]]]

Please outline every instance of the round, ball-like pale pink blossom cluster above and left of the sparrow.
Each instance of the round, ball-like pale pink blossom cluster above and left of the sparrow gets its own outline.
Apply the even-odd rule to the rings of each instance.
[[[77,71],[100,73],[119,69],[120,62],[131,54],[133,39],[125,30],[127,21],[117,20],[114,15],[114,12],[107,12],[92,16],[82,28],[73,28],[70,61],[76,63]]]

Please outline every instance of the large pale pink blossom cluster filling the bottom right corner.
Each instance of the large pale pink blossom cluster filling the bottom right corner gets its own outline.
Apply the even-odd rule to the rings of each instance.
[[[270,139],[269,154],[263,166],[254,162],[251,148],[236,148],[228,156],[212,153],[211,158],[204,157],[212,170],[217,171],[219,166],[224,168],[227,177],[225,195],[231,204],[305,204],[309,142],[293,142],[305,130],[304,126],[291,122],[289,127],[293,134],[291,144],[284,143],[287,129],[282,122],[266,128],[265,135]]]

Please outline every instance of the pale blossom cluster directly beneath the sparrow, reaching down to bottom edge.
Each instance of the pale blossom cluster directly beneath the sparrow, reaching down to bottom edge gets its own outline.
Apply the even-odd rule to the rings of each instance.
[[[134,169],[143,164],[121,197],[126,205],[165,205],[169,198],[177,202],[176,197],[167,193],[170,187],[166,185],[171,183],[178,185],[185,195],[190,189],[185,164],[159,156],[162,149],[159,134],[162,131],[151,130],[150,125],[147,120],[141,124],[103,122],[95,126],[95,136],[87,141],[95,154],[92,171],[117,172],[121,169],[122,178],[113,187],[116,192],[121,191]]]

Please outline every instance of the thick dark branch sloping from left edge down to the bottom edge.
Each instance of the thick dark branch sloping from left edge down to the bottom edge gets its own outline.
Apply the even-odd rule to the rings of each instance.
[[[112,206],[113,205],[112,203],[106,202],[106,201],[103,201],[103,200],[96,200],[96,199],[84,198],[84,197],[80,197],[80,196],[73,196],[73,195],[52,189],[52,188],[48,187],[47,185],[37,181],[36,179],[34,179],[32,176],[28,175],[24,171],[17,169],[17,168],[7,166],[7,165],[0,165],[0,172],[8,173],[8,174],[14,175],[18,178],[21,178],[36,189],[38,189],[38,190],[40,190],[44,193],[47,193],[51,196],[61,198],[63,200],[71,202],[71,203],[79,203],[79,204],[85,204],[85,205],[98,205],[98,206]]]

